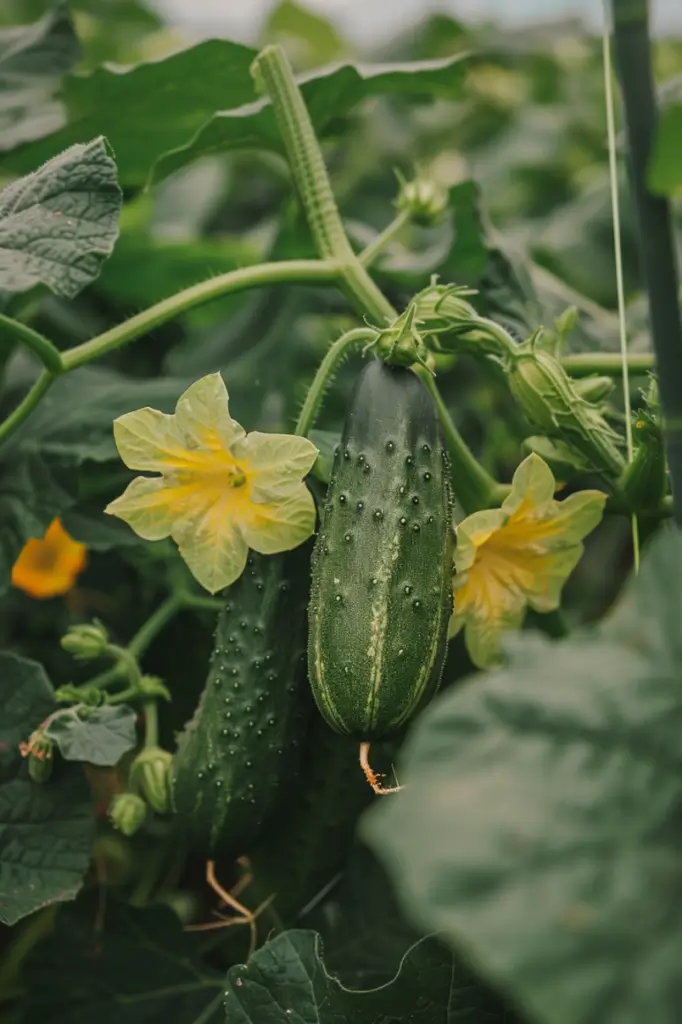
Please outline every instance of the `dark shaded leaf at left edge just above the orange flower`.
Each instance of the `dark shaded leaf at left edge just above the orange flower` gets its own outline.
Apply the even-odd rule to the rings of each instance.
[[[0,462],[0,594],[31,537],[43,537],[74,499],[57,473],[32,452],[8,452]]]

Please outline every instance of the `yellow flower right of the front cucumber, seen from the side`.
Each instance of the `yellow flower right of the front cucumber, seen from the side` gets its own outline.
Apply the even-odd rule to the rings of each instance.
[[[474,512],[458,526],[450,635],[464,628],[474,665],[500,657],[506,630],[526,608],[551,611],[583,553],[583,539],[601,519],[606,495],[581,490],[554,500],[556,483],[540,456],[521,463],[501,509]]]

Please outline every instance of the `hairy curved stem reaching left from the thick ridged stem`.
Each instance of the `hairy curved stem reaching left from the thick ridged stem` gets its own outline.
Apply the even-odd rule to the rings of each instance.
[[[96,338],[91,338],[90,341],[63,352],[61,356],[63,368],[65,370],[75,370],[76,367],[81,367],[85,362],[90,362],[91,359],[112,352],[122,345],[134,341],[135,338],[139,338],[141,334],[146,334],[159,325],[165,324],[166,321],[178,316],[187,309],[209,302],[211,299],[263,285],[324,284],[337,280],[340,273],[341,268],[331,260],[307,259],[260,263],[221,273],[210,281],[203,281],[199,285],[193,285],[191,288],[185,288],[177,295],[171,295],[169,298],[157,302],[156,305],[131,316],[123,324],[118,324],[110,331],[104,331]]]

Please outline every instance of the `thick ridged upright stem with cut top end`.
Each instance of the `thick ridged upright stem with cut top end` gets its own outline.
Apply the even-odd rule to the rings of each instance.
[[[305,210],[315,247],[325,260],[338,264],[339,284],[363,315],[383,322],[397,313],[353,252],[341,221],[319,142],[301,91],[280,46],[266,46],[252,74],[269,96],[287,151],[294,182]]]

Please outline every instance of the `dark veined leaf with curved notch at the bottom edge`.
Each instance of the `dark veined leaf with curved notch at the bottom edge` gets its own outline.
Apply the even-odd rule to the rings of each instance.
[[[492,1013],[487,1013],[492,1011]],[[328,974],[315,932],[291,931],[258,949],[227,973],[228,1024],[380,1024],[411,1021],[455,1024],[472,1013],[481,1024],[504,1022],[505,1012],[478,1004],[470,976],[436,939],[422,939],[403,956],[398,973],[380,988],[344,988]]]

